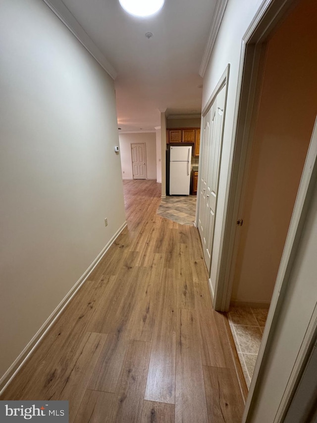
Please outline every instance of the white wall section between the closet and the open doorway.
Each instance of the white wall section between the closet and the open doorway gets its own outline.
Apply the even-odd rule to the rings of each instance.
[[[211,53],[211,58],[204,75],[203,104],[206,106],[212,91],[216,87],[228,63],[230,74],[228,79],[228,96],[223,133],[219,191],[214,228],[214,242],[211,260],[211,284],[215,289],[218,266],[220,235],[225,208],[225,189],[228,180],[230,149],[233,134],[233,118],[237,96],[238,73],[240,63],[241,42],[249,24],[256,14],[262,0],[228,0],[223,20]]]

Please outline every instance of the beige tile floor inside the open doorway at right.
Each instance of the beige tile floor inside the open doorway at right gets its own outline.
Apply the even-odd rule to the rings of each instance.
[[[267,312],[267,308],[232,307],[227,313],[248,389],[259,353]]]

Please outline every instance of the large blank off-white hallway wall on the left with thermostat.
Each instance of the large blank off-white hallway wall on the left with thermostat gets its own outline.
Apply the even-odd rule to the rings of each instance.
[[[112,79],[43,1],[0,9],[2,375],[125,213]]]

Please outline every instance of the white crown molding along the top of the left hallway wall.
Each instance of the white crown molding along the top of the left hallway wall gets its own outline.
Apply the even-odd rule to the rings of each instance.
[[[61,0],[43,0],[95,60],[115,79],[117,72]]]

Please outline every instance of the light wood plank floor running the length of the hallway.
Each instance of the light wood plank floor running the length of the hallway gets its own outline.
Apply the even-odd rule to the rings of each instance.
[[[241,422],[198,231],[156,214],[155,181],[124,188],[127,228],[1,399],[68,400],[75,423]]]

